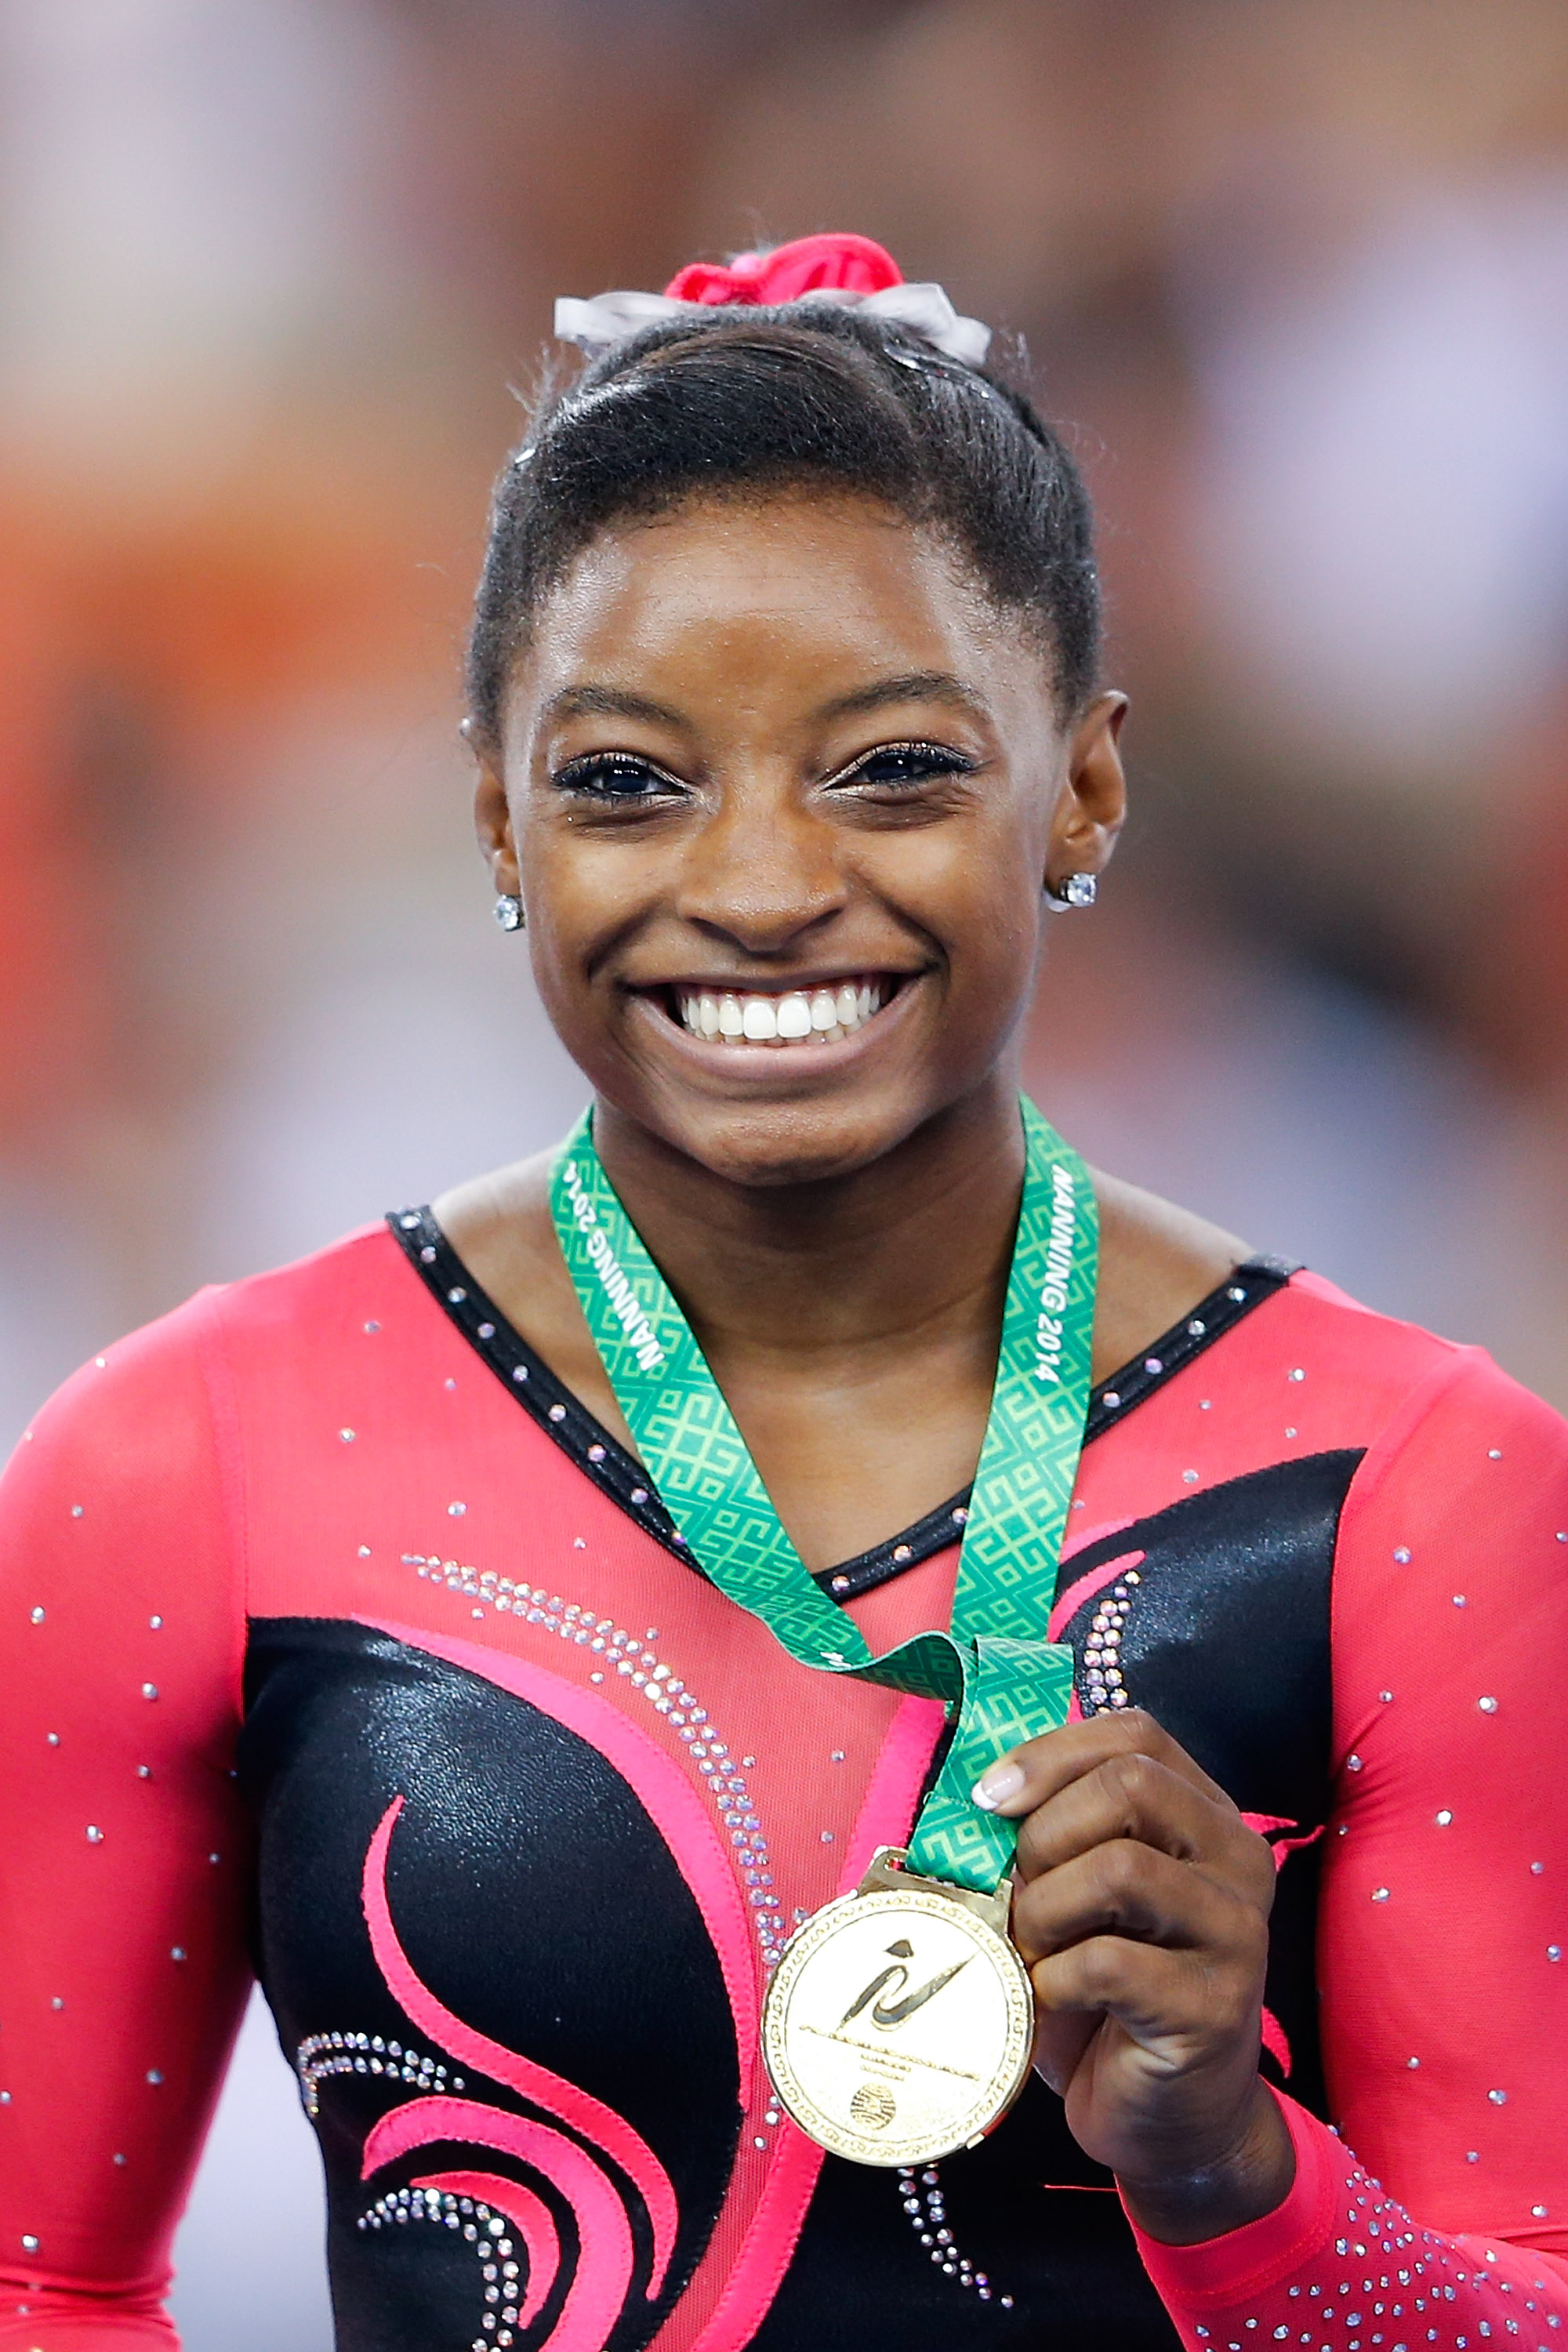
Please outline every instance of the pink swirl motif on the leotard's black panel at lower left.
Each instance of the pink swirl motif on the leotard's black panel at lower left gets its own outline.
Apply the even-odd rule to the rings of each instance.
[[[508,2114],[503,2107],[487,2107],[470,2098],[411,2098],[402,2107],[383,2114],[364,2140],[360,2178],[367,2180],[378,2166],[435,2140],[465,2140],[475,2147],[494,2147],[517,2157],[536,2173],[562,2190],[578,2230],[578,2263],[562,2314],[548,2336],[548,2352],[599,2352],[599,2345],[616,2324],[632,2279],[632,2232],[618,2187],[609,2180],[595,2157],[578,2145],[588,2140],[592,2150],[611,2159],[625,2173],[646,2209],[654,2230],[654,2267],[649,2277],[649,2300],[654,2300],[670,2270],[679,2211],[675,2190],[663,2164],[637,2131],[602,2100],[564,2082],[548,2067],[536,2065],[520,2051],[508,2051],[501,2042],[463,2025],[414,1971],[397,1929],[386,1891],[386,1863],[393,1830],[402,1813],[402,1797],[393,1797],[376,1825],[364,1856],[360,1898],[369,1929],[376,1966],[404,2016],[428,2034],[449,2058],[508,2091],[517,2091],[529,2105],[567,2124],[576,2138],[555,2131],[550,2124]],[[458,2176],[433,2176],[423,2187],[454,2187]],[[550,2284],[559,2270],[559,2237],[550,2211],[531,2190],[489,2173],[463,2176],[461,2194],[480,2194],[484,2204],[505,2213],[517,2225],[517,2234],[529,2253],[527,2314],[541,2310]],[[468,2185],[484,2180],[482,2190]]]

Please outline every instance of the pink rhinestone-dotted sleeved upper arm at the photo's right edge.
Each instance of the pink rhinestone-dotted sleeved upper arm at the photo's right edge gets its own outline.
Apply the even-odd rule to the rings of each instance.
[[[1335,2122],[1432,2227],[1563,2251],[1568,1425],[1483,1357],[1368,1451],[1333,1653]]]

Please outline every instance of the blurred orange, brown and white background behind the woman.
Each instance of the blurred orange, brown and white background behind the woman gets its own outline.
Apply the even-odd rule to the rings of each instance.
[[[5,1442],[564,1127],[487,485],[557,292],[813,228],[1018,336],[1100,501],[1138,816],[1041,1101],[1568,1406],[1561,0],[0,0]],[[176,2310],[329,2343],[259,2013]]]

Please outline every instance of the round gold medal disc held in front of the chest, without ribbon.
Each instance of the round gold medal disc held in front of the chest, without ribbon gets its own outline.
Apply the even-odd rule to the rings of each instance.
[[[903,1870],[882,1846],[853,1896],[790,1936],[762,2053],[790,2117],[851,2164],[973,2147],[1030,2077],[1034,1992],[994,1896]]]

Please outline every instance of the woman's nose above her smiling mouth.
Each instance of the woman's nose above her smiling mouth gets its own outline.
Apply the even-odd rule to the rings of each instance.
[[[835,828],[778,793],[726,793],[691,842],[677,913],[748,955],[788,955],[849,901]]]

